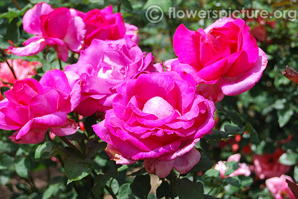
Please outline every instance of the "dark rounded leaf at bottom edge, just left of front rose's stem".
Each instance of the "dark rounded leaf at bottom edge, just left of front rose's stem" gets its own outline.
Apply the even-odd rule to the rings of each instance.
[[[151,189],[149,174],[136,176],[130,188],[135,196],[147,199]]]

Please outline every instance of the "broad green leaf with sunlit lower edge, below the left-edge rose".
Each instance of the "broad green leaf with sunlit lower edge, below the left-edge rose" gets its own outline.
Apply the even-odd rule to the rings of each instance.
[[[83,160],[80,157],[71,156],[64,161],[64,169],[68,177],[67,184],[69,184],[89,175],[93,169],[93,163],[90,159]]]

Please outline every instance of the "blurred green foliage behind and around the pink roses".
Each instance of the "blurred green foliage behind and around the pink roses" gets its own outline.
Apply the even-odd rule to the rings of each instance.
[[[139,28],[140,48],[143,51],[151,51],[155,56],[155,62],[165,61],[175,58],[172,46],[173,34],[181,23],[191,30],[206,28],[216,19],[169,18],[169,7],[176,7],[176,10],[241,10],[245,9],[265,9],[269,13],[274,10],[298,9],[297,0],[44,0],[53,7],[73,7],[83,12],[90,9],[102,9],[110,4],[113,5],[114,12],[120,11],[125,22],[134,24]],[[14,45],[20,46],[30,35],[22,29],[22,16],[27,9],[31,8],[39,0],[0,0],[0,49],[1,53],[7,49],[12,41]],[[150,23],[146,18],[146,9],[150,5],[159,5],[164,11],[164,17],[159,23]],[[271,23],[274,25],[270,25]],[[263,23],[263,22],[262,22]],[[247,21],[251,30],[260,26],[257,21]],[[217,125],[216,130],[222,134],[211,134],[203,139],[197,148],[202,152],[202,159],[199,164],[186,176],[189,180],[200,181],[204,184],[206,199],[218,198],[252,198],[267,199],[272,195],[264,186],[264,180],[254,180],[252,178],[220,180],[219,172],[210,169],[215,162],[226,160],[235,153],[241,152],[241,162],[252,164],[253,154],[263,152],[272,153],[279,145],[287,151],[280,161],[293,166],[288,175],[294,177],[298,183],[298,90],[297,84],[291,82],[282,75],[286,66],[298,70],[298,20],[266,19],[261,24],[264,29],[264,38],[259,39],[258,45],[268,55],[268,65],[261,80],[251,90],[235,96],[225,96],[217,104]],[[59,68],[56,53],[53,50],[45,55],[41,52],[34,56],[18,57],[13,54],[7,56],[10,59],[23,58],[28,61],[40,61],[42,68],[38,69],[39,79],[44,72],[52,68]],[[68,63],[74,63],[77,55],[71,56]],[[66,65],[67,63],[63,63]],[[2,87],[3,94],[8,88]],[[90,125],[90,121],[83,119],[85,126]],[[243,134],[249,132],[249,136]],[[223,134],[225,132],[225,134]],[[257,133],[258,136],[255,136]],[[90,159],[82,162],[76,159],[71,149],[59,150],[59,146],[64,145],[59,139],[51,141],[46,138],[42,145],[16,145],[8,137],[9,131],[0,132],[0,198],[13,199],[69,199],[88,198],[101,196],[111,198],[113,191],[117,198],[161,198],[169,196],[169,184],[167,181],[158,181],[158,177],[146,174],[142,163],[121,166],[109,161],[108,156],[102,150],[104,145],[94,148],[92,142],[90,149],[101,149],[93,151]],[[223,149],[219,145],[227,138],[234,139],[236,135],[241,136],[241,140],[236,142],[236,147],[226,144]],[[283,142],[288,138],[288,142]],[[70,138],[71,139],[71,138]],[[77,138],[76,138],[77,139]],[[75,140],[73,138],[73,140]],[[79,139],[77,139],[79,140]],[[89,142],[89,141],[88,141]],[[74,141],[75,143],[75,141]],[[228,142],[226,142],[228,143]],[[76,143],[78,145],[78,142]],[[244,150],[249,146],[250,150]],[[65,147],[67,147],[65,145]],[[91,151],[91,150],[90,150]],[[55,156],[55,157],[54,157]],[[54,158],[53,158],[54,157]],[[69,159],[72,157],[73,159]],[[66,159],[64,159],[66,158]],[[64,162],[64,163],[63,163]],[[97,176],[95,182],[89,176],[80,181],[68,182],[68,177],[64,174],[64,165],[72,164],[77,168],[83,168],[88,174],[90,168],[94,168],[102,175]],[[83,166],[82,166],[83,165]],[[114,172],[117,169],[116,173]],[[208,170],[207,172],[205,172]],[[138,173],[132,173],[138,171]],[[204,175],[197,175],[198,172],[205,172]],[[127,176],[131,174],[131,176]],[[142,174],[142,175],[140,175]],[[196,175],[193,175],[196,174]],[[137,175],[137,177],[135,177]],[[170,174],[174,175],[174,174]],[[182,185],[188,185],[191,181],[179,179],[177,181],[177,193],[182,199],[191,198],[191,195],[183,196],[179,193]],[[92,187],[93,183],[95,186]],[[149,183],[149,185],[148,185]],[[5,185],[5,186],[4,186]],[[179,188],[179,185],[180,188]],[[105,187],[105,189],[103,189]],[[158,188],[157,188],[158,187]],[[156,190],[157,188],[157,190]],[[136,189],[143,190],[141,193]],[[184,188],[185,189],[185,188]],[[200,184],[190,186],[188,192],[196,193],[202,189]],[[209,194],[209,196],[206,196]],[[203,196],[202,196],[203,197]],[[100,197],[99,197],[100,198]]]

